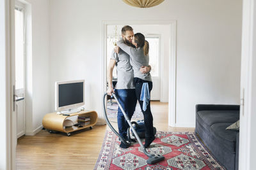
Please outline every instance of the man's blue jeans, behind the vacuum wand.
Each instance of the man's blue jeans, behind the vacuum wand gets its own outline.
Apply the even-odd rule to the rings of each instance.
[[[131,120],[137,104],[135,89],[115,89],[115,94],[118,97],[118,101],[124,109],[127,117],[129,117]],[[126,139],[129,124],[125,120],[124,115],[119,107],[117,113],[117,124],[120,136]]]

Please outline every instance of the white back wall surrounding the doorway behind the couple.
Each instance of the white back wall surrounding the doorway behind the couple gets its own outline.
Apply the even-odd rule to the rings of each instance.
[[[102,116],[102,21],[177,20],[177,126],[195,126],[195,104],[238,104],[241,0],[164,1],[134,8],[122,1],[51,0],[51,109],[54,81],[83,78]]]

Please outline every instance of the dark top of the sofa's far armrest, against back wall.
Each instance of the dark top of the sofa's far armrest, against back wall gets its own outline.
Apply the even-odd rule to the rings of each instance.
[[[240,110],[240,106],[229,104],[196,104],[196,113],[202,110]]]

